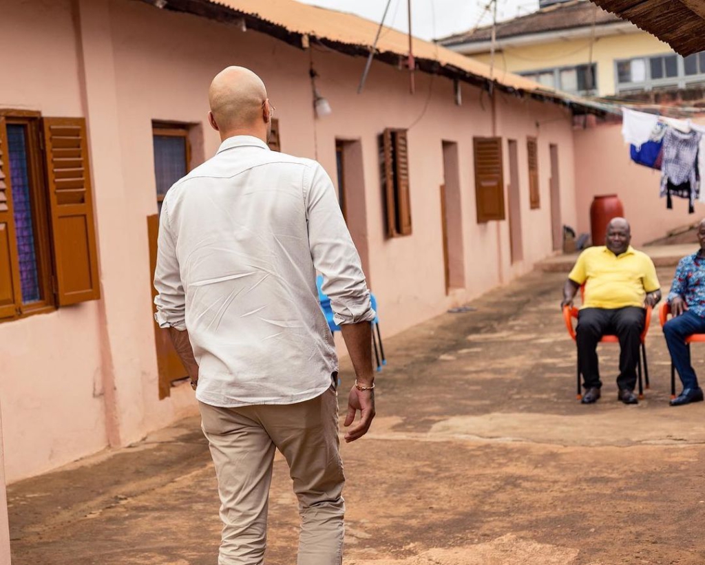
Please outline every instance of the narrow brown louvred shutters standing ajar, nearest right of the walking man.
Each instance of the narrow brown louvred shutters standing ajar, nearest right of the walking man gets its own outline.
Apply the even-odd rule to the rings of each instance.
[[[386,129],[380,137],[387,235],[410,235],[409,149],[406,130]]]

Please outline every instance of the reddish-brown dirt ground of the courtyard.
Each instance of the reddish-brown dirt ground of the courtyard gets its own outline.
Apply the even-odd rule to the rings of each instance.
[[[668,406],[654,316],[646,399],[617,401],[618,348],[605,345],[603,397],[580,405],[564,277],[532,273],[474,311],[386,340],[379,416],[342,448],[346,565],[705,564],[705,403]],[[345,389],[350,367],[341,374]],[[217,561],[219,502],[197,418],[8,497],[14,565]],[[267,564],[294,564],[298,514],[281,457],[269,524]]]

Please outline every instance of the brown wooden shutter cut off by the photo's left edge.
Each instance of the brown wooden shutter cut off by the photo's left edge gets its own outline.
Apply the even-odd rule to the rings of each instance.
[[[8,162],[5,118],[0,116],[0,320],[18,316],[22,304]]]

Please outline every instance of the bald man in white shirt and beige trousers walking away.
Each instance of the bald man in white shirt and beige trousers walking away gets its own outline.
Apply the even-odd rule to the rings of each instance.
[[[228,67],[209,91],[216,155],[168,191],[159,221],[157,321],[187,368],[218,477],[219,565],[264,563],[274,450],[301,516],[299,565],[340,565],[343,465],[338,360],[316,288],[331,299],[357,380],[352,442],[374,418],[374,311],[329,176],[270,151],[274,107],[252,71]]]

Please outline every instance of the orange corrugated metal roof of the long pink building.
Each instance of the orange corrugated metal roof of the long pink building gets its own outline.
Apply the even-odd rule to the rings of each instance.
[[[331,49],[350,55],[367,56],[372,49],[379,23],[295,0],[142,0],[168,10],[188,12],[225,23],[244,20],[247,28],[278,37],[305,48],[317,41]],[[450,51],[438,44],[415,37],[412,42],[417,68],[424,72],[446,75],[489,89],[518,92],[558,104],[603,112],[600,105],[563,92],[542,87],[537,82],[512,73],[495,73],[484,63]],[[408,54],[409,39],[403,32],[385,27],[376,46],[375,58],[396,65]]]

